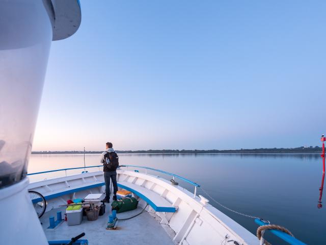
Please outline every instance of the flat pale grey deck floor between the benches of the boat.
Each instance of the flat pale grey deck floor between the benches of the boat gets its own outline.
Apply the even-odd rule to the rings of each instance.
[[[55,229],[47,229],[49,226],[49,216],[57,217],[57,211],[65,213],[65,208],[53,209],[46,212],[41,217],[42,227],[48,240],[69,240],[82,232],[85,236],[80,239],[88,239],[91,245],[102,244],[155,244],[168,245],[175,244],[169,237],[165,229],[155,220],[155,214],[143,212],[137,217],[121,220],[118,222],[116,230],[106,230],[108,215],[111,214],[111,204],[106,204],[104,215],[99,216],[95,221],[88,221],[83,216],[82,224],[77,226],[68,226],[67,222],[63,222]],[[117,217],[127,218],[142,211],[142,208],[118,213]]]

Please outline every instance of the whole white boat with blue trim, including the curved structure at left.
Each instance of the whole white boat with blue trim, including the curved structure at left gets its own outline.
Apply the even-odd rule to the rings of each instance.
[[[102,166],[29,174],[26,169],[50,43],[77,31],[81,21],[80,3],[77,0],[2,1],[0,16],[0,32],[5,33],[0,39],[2,244],[255,245],[265,242],[264,230],[257,239],[211,205],[208,197],[197,195],[200,184],[164,170],[132,165],[119,167],[118,186],[132,193],[138,201],[137,209],[117,214],[113,227],[108,226],[113,224],[110,217],[114,217],[110,205],[106,205],[105,213],[96,220],[83,217],[80,225],[69,226],[63,216],[68,213],[67,205],[74,204],[68,204],[67,200],[83,200],[88,194],[103,193]],[[32,175],[67,173],[82,168],[80,174],[29,183]],[[98,171],[86,168],[98,168]],[[152,172],[171,176],[172,180]],[[177,179],[191,184],[194,192],[177,185]],[[39,198],[31,199],[32,192],[39,193]],[[38,214],[36,206],[44,210]],[[258,217],[255,222],[259,227],[269,225]],[[305,244],[284,231],[266,229],[290,244]]]

